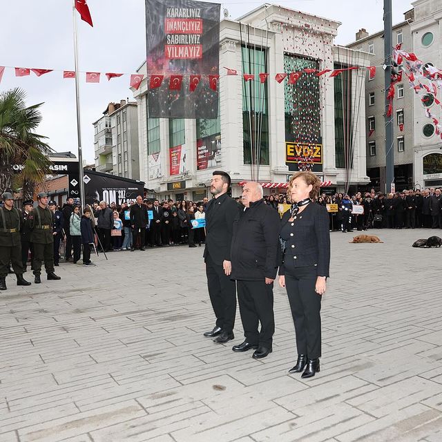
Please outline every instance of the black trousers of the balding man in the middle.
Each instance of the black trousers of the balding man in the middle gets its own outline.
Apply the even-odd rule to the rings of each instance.
[[[275,333],[273,283],[238,280],[236,287],[244,338],[249,344],[271,348]],[[259,323],[261,329],[258,332]]]

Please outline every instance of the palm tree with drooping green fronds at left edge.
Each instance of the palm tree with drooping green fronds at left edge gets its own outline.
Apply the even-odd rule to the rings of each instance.
[[[52,149],[44,142],[46,137],[34,132],[41,122],[42,103],[26,107],[25,99],[20,88],[0,94],[0,192],[21,188],[23,198],[32,198],[35,186],[50,173]]]

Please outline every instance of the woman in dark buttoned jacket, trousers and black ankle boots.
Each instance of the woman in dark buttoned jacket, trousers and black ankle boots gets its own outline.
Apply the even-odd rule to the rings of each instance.
[[[290,178],[288,194],[294,204],[282,216],[280,231],[279,284],[287,289],[298,349],[298,361],[289,373],[304,371],[302,378],[319,372],[320,302],[329,276],[329,215],[324,206],[311,202],[319,189],[314,173],[298,172]]]

